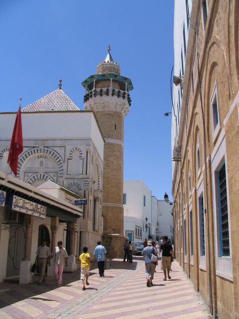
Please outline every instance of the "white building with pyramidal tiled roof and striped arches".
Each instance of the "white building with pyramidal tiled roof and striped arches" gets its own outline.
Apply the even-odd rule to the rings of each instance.
[[[86,198],[74,254],[78,256],[84,246],[93,253],[103,232],[101,203],[105,144],[94,112],[80,111],[62,90],[60,80],[57,90],[23,108],[21,118],[23,152],[19,156],[16,177],[34,187],[50,179],[68,189],[68,195],[74,193],[78,198]],[[7,156],[14,120],[15,113],[0,114],[0,170],[4,173],[8,170]],[[68,197],[65,200],[69,202]],[[70,249],[68,238],[66,248]]]

